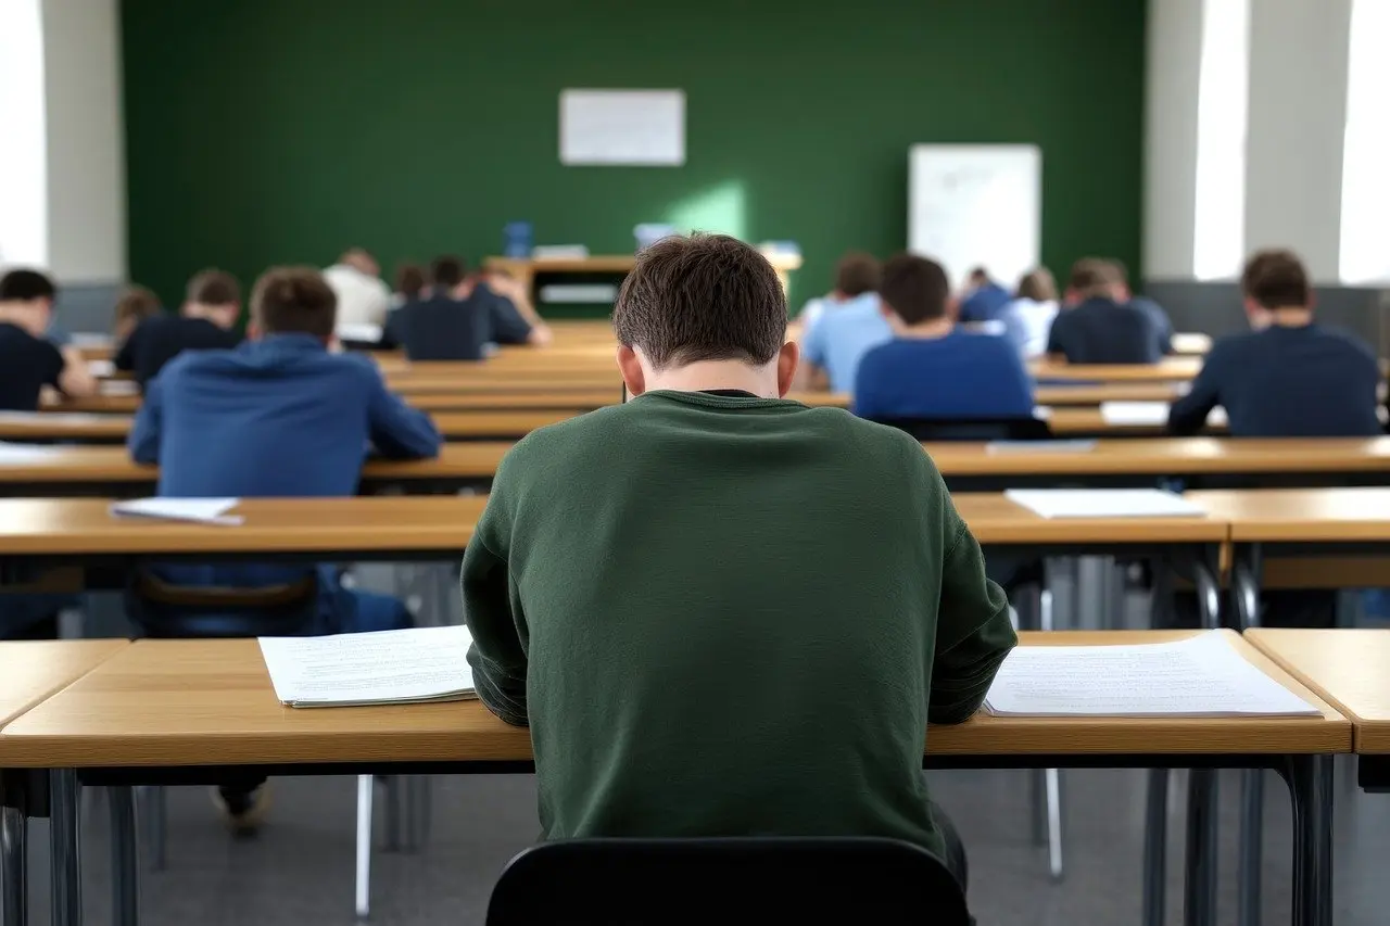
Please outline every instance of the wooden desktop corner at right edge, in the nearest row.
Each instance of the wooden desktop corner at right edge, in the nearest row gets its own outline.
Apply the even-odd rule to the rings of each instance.
[[[1390,630],[1264,627],[1245,640],[1351,719],[1357,752],[1390,752]]]

